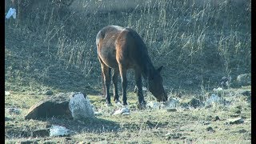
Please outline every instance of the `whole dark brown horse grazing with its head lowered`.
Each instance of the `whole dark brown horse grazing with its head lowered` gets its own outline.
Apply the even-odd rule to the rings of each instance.
[[[105,90],[106,103],[110,102],[110,70],[114,69],[112,80],[114,83],[114,101],[119,101],[118,95],[118,73],[122,78],[122,102],[127,105],[126,73],[128,69],[134,69],[135,81],[138,87],[138,102],[145,106],[146,102],[142,94],[142,76],[147,79],[150,92],[157,98],[158,102],[165,102],[167,94],[162,86],[160,71],[154,68],[146,45],[138,33],[130,28],[121,26],[106,26],[100,30],[96,37],[98,60],[102,68],[102,83]]]

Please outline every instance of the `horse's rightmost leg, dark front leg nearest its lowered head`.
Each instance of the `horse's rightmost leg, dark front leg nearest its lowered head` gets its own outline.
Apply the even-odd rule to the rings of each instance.
[[[137,86],[138,103],[139,106],[143,108],[146,106],[146,102],[142,93],[142,74],[138,72],[138,70],[135,70],[135,81]]]

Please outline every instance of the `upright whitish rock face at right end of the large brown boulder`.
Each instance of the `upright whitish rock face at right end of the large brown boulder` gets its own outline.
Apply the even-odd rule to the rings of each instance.
[[[70,111],[74,119],[94,118],[93,106],[90,104],[88,97],[82,93],[73,94],[70,98]]]

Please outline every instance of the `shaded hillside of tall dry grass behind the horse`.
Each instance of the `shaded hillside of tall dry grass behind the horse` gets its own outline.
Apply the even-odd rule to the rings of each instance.
[[[86,81],[79,86],[101,86],[95,36],[107,25],[129,26],[142,35],[154,65],[165,66],[170,89],[212,88],[223,76],[235,79],[251,70],[249,2],[149,1],[144,8],[107,13],[35,12],[22,21],[6,20],[6,84],[22,73],[26,79],[15,82],[22,86],[31,81],[63,86],[57,79],[76,85],[73,77]]]

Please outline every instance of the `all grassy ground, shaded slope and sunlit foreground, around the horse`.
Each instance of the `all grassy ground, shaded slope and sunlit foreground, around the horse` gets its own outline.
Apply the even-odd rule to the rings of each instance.
[[[182,94],[185,99],[206,96],[218,87],[223,76],[230,76],[231,88],[225,97],[235,99],[234,104],[228,108],[178,110],[174,114],[165,110],[135,109],[126,116],[127,122],[125,118],[110,114],[100,116],[106,120],[105,127],[118,126],[113,131],[98,129],[100,120],[93,132],[78,129],[77,123],[63,121],[80,132],[72,137],[72,142],[82,141],[85,137],[86,142],[103,143],[250,142],[250,120],[231,128],[223,122],[230,118],[236,106],[242,106],[240,116],[250,119],[250,104],[242,94],[236,93],[241,89],[250,90],[250,86],[237,89],[233,82],[238,74],[251,73],[251,2],[220,1],[213,5],[205,1],[196,5],[186,0],[146,0],[143,6],[104,12],[86,11],[86,7],[84,11],[75,11],[47,6],[25,14],[24,18],[6,20],[5,89],[11,94],[5,97],[5,106],[22,110],[20,115],[5,113],[14,118],[6,122],[8,142],[25,139],[21,131],[29,133],[37,126],[46,127],[55,122],[23,119],[30,106],[46,97],[47,90],[54,94],[81,91],[89,95],[95,106],[102,108],[104,100],[98,97],[102,83],[95,37],[98,30],[108,25],[129,26],[138,31],[148,46],[154,66],[164,66],[162,77],[169,97],[174,98],[177,94]],[[134,105],[137,98],[130,93],[134,90],[132,70],[128,80],[128,102]],[[202,123],[211,121],[207,119],[209,115],[223,119],[210,122],[216,133],[207,131],[208,125]],[[242,129],[246,132],[239,133]],[[171,134],[165,136],[168,133]],[[148,139],[144,141],[143,138]],[[53,139],[38,138],[38,142],[48,140]],[[54,138],[53,141],[64,142],[65,138]]]

